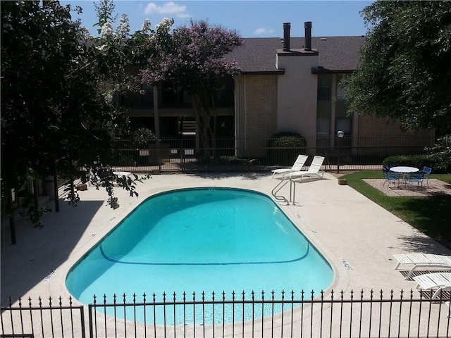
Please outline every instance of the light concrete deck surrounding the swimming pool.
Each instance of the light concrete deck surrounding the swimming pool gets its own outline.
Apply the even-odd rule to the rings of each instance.
[[[237,187],[268,196],[278,184],[271,173],[199,173],[153,175],[137,183],[138,197],[116,188],[120,207],[106,206],[104,189],[88,187],[78,206],[60,201],[61,210],[43,216],[44,227],[35,229],[17,220],[17,244],[11,245],[8,226],[1,231],[1,304],[19,297],[37,300],[67,299],[68,270],[138,204],[152,194],[187,187]],[[289,184],[281,190],[289,195]],[[296,204],[278,203],[297,227],[333,266],[335,292],[383,290],[395,294],[415,289],[395,270],[393,254],[427,252],[451,255],[451,251],[421,234],[411,225],[326,173],[323,180],[296,184]],[[54,208],[53,201],[49,208]],[[7,222],[2,218],[2,223]],[[352,268],[352,270],[350,270]],[[330,290],[329,289],[329,290]],[[139,290],[141,291],[141,290]],[[207,291],[207,290],[206,290]],[[171,292],[171,290],[168,290]],[[418,294],[414,294],[417,296]]]

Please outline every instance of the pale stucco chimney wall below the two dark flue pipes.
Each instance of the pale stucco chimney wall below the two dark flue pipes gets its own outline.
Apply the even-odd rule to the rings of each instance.
[[[298,132],[314,140],[318,76],[311,73],[311,68],[318,65],[318,54],[303,50],[278,51],[276,62],[279,69],[285,70],[285,74],[278,77],[277,130]]]

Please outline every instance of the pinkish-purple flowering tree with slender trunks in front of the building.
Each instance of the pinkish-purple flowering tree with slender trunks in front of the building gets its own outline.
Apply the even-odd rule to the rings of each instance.
[[[237,63],[224,55],[240,46],[240,35],[206,21],[191,21],[170,33],[173,21],[165,19],[157,27],[158,38],[152,39],[152,58],[142,70],[142,81],[152,85],[166,83],[181,88],[191,96],[200,131],[200,139],[209,156],[214,140],[212,118],[215,117],[214,94],[221,89],[221,79],[239,71]]]

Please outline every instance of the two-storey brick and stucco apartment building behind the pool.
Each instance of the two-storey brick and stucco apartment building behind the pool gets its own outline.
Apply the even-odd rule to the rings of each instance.
[[[292,31],[304,37],[292,37]],[[245,38],[226,56],[237,61],[240,73],[225,80],[216,97],[216,131],[235,142],[237,156],[261,155],[257,149],[263,151],[276,132],[302,134],[309,149],[335,146],[338,131],[345,146],[433,143],[433,130],[408,133],[393,120],[349,115],[341,80],[357,68],[365,37],[311,35],[311,22],[284,23],[282,37]],[[197,138],[190,96],[167,87],[123,98],[132,126],[148,127],[160,138]]]

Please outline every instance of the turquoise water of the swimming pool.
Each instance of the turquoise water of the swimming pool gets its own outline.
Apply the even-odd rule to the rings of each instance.
[[[231,299],[233,291],[249,297],[262,290],[266,297],[273,290],[276,297],[282,290],[317,294],[332,280],[328,262],[268,196],[198,188],[144,201],[73,266],[66,287],[87,304],[94,294],[106,294],[109,302],[113,294],[126,294],[128,301],[137,294],[141,301],[144,293],[162,301],[163,292],[167,300],[174,292],[183,300],[186,292],[187,301],[193,292],[196,299],[202,292],[211,299],[213,291],[216,299],[222,292]],[[216,315],[222,320],[220,312],[215,321]],[[183,320],[176,317],[177,323]],[[159,313],[154,319],[162,320]]]

